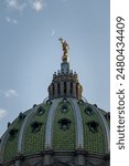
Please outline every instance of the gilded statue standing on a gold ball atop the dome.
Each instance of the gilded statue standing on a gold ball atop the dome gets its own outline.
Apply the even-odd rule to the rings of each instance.
[[[67,62],[67,61],[68,61],[67,50],[69,50],[69,45],[68,45],[67,42],[66,42],[65,40],[63,40],[62,38],[60,38],[58,40],[61,41],[62,49],[63,49],[63,56],[62,56],[62,60],[63,60],[63,62]]]

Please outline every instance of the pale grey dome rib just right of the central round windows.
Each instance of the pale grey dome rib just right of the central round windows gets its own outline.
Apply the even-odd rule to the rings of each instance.
[[[77,100],[71,98],[73,110],[74,110],[74,116],[75,116],[75,123],[76,123],[76,148],[84,148],[84,132],[83,132],[83,120],[80,110],[77,105]]]

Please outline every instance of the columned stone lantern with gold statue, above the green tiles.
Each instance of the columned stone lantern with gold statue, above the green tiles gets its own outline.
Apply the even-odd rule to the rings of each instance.
[[[78,81],[78,75],[69,68],[67,54],[69,46],[62,38],[60,41],[63,49],[61,70],[53,74],[52,83],[49,86],[49,98],[73,97],[82,100],[83,87]]]

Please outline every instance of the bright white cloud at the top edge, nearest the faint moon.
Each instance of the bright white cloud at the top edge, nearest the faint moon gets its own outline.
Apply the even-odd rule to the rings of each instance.
[[[41,11],[43,10],[43,8],[45,7],[45,3],[43,0],[32,0],[30,1],[32,9],[34,9],[35,11]]]

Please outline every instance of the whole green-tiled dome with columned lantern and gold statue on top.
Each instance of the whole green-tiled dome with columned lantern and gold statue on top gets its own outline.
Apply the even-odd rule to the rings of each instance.
[[[88,103],[82,92],[65,59],[53,74],[49,97],[8,123],[0,138],[0,165],[109,166],[110,114]]]

